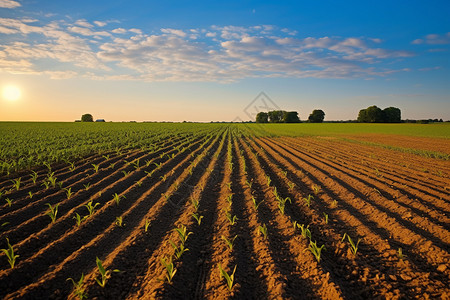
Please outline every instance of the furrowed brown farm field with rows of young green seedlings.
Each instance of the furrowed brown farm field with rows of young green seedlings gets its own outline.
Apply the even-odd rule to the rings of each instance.
[[[0,123],[0,298],[448,299],[450,126],[377,125]]]

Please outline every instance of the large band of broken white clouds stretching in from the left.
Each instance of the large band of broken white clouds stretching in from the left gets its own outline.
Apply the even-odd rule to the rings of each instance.
[[[150,34],[139,28],[96,30],[106,22],[83,19],[40,24],[0,18],[5,41],[0,44],[0,71],[140,81],[368,79],[406,72],[388,63],[413,55],[383,48],[376,38],[298,37],[271,25],[162,28]]]

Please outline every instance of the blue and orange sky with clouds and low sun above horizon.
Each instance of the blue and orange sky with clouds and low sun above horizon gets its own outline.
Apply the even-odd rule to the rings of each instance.
[[[0,0],[0,121],[450,120],[450,1]]]

